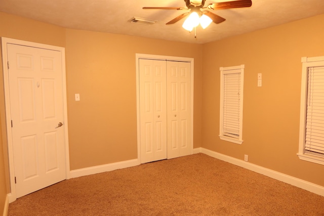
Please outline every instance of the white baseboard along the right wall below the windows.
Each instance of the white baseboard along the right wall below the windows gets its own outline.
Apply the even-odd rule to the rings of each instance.
[[[312,193],[318,194],[320,196],[324,196],[324,187],[315,185],[311,182],[307,182],[301,179],[297,179],[292,176],[288,176],[286,174],[282,174],[281,172],[274,171],[272,169],[264,168],[262,166],[255,165],[253,163],[246,162],[244,160],[239,160],[234,157],[230,157],[224,154],[220,154],[205,148],[196,148],[193,149],[194,153],[204,153],[214,158],[235,164],[237,166],[241,166],[246,169],[250,169],[252,171],[258,172],[259,174],[265,175],[272,179],[279,180],[281,182],[288,183],[290,185],[296,186],[298,188],[302,188],[304,190],[310,191]]]

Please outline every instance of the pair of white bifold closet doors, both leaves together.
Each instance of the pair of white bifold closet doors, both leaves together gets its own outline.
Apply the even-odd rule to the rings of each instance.
[[[190,63],[139,60],[141,163],[191,154]]]

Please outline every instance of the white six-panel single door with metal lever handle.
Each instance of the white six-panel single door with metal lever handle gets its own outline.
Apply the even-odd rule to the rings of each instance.
[[[62,54],[13,44],[7,50],[18,198],[66,178]]]

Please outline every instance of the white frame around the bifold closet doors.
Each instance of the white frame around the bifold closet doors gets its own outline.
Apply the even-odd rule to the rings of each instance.
[[[175,56],[159,56],[136,53],[136,120],[137,120],[137,159],[141,164],[141,142],[140,142],[140,91],[139,91],[139,59],[152,59],[152,60],[166,60],[166,61],[180,61],[190,62],[190,117],[191,117],[191,131],[190,143],[191,154],[193,152],[193,58],[175,57]]]

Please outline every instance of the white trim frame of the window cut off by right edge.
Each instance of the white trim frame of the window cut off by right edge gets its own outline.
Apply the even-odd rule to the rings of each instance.
[[[324,158],[305,153],[306,143],[306,114],[307,114],[307,87],[308,87],[308,68],[324,66],[324,56],[321,57],[303,57],[302,62],[302,82],[301,82],[301,99],[300,99],[300,128],[299,128],[299,148],[298,157],[301,160],[314,162],[324,165]]]

